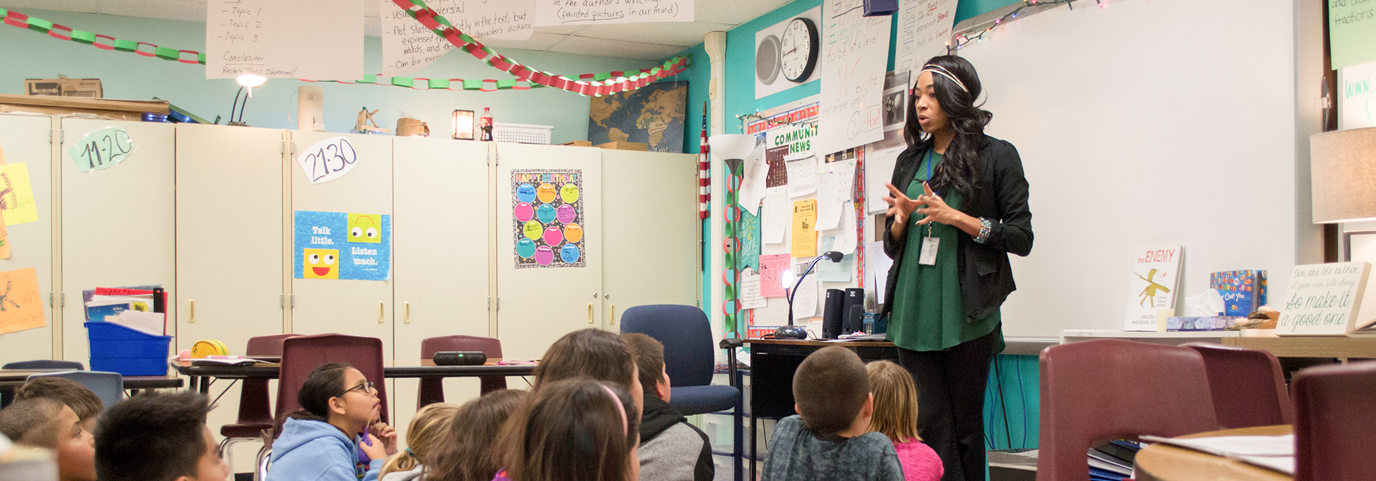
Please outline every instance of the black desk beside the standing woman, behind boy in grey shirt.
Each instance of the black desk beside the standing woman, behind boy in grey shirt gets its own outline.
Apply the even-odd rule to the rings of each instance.
[[[899,360],[888,341],[823,342],[812,339],[742,339],[750,346],[750,480],[755,477],[755,418],[786,418],[793,411],[793,372],[808,355],[826,346],[854,350],[861,360]],[[731,360],[735,364],[735,359]]]

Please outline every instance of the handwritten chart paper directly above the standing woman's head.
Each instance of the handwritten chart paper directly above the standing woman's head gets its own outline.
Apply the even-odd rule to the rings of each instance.
[[[914,71],[927,59],[945,55],[956,0],[901,0],[894,71]]]

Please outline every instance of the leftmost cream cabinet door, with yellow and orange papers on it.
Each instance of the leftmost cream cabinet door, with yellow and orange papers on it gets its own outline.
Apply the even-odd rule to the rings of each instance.
[[[39,275],[39,297],[47,326],[0,334],[0,364],[33,359],[54,359],[52,313],[52,144],[48,135],[52,120],[33,115],[0,115],[0,153],[4,164],[25,164],[33,186],[39,220],[6,228],[10,234],[10,258],[0,260],[0,271],[33,268]],[[3,184],[0,184],[3,186]],[[0,198],[15,202],[14,186],[3,186]],[[80,339],[85,344],[85,339]],[[83,364],[87,360],[80,360]]]

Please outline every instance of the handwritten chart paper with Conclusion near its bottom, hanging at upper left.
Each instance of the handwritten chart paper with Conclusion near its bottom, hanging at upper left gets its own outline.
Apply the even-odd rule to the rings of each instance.
[[[363,0],[206,1],[205,78],[246,73],[363,78]]]

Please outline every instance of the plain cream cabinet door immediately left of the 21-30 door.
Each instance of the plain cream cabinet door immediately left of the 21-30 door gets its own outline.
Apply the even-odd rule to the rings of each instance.
[[[282,131],[176,126],[176,349],[282,333]]]

